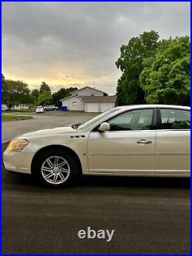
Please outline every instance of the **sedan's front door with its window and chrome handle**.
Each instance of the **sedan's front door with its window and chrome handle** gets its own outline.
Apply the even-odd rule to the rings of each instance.
[[[155,111],[127,111],[108,120],[110,131],[98,127],[88,138],[88,167],[92,173],[154,174]]]

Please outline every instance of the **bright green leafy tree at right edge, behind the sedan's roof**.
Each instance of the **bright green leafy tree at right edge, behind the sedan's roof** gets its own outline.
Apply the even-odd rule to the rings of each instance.
[[[140,75],[147,103],[190,105],[190,38],[175,38]]]

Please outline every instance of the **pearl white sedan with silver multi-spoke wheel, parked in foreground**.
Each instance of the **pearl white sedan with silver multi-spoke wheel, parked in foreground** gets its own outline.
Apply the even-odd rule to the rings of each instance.
[[[82,125],[30,132],[9,143],[4,163],[52,187],[78,175],[190,177],[190,108],[121,106]]]

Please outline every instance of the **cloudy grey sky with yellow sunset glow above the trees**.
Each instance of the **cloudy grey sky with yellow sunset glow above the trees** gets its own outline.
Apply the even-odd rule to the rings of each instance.
[[[2,73],[30,88],[86,85],[113,94],[131,37],[190,35],[189,2],[2,2]]]

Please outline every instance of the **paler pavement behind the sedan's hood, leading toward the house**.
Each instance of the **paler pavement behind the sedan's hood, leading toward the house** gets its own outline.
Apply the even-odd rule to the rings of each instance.
[[[30,113],[22,113],[22,115],[30,115]],[[33,119],[30,120],[4,121],[2,122],[2,143],[26,132],[71,125],[87,121],[95,115],[98,113],[49,111],[38,115],[32,114]]]

